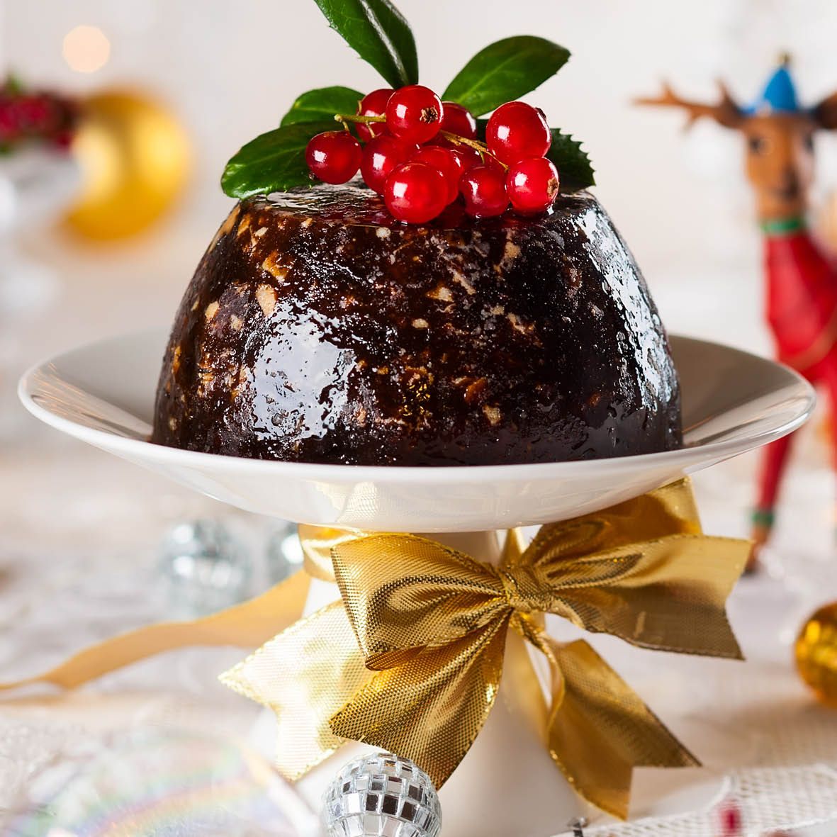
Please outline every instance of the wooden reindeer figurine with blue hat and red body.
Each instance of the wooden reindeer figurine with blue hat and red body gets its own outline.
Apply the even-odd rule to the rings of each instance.
[[[783,58],[749,107],[737,105],[723,84],[716,105],[681,99],[669,85],[664,85],[662,95],[638,103],[682,108],[689,125],[709,116],[742,132],[747,141],[747,177],[764,234],[766,314],[776,355],[828,394],[837,450],[837,270],[814,243],[805,218],[814,176],[814,134],[837,128],[837,93],[811,109],[800,107],[788,59]],[[773,526],[792,442],[793,436],[786,436],[763,454],[752,519],[751,569]]]

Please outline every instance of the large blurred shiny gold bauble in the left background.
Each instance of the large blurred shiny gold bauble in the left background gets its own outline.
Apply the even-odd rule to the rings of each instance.
[[[181,124],[149,96],[109,90],[81,103],[73,151],[82,192],[67,223],[96,241],[144,232],[176,202],[191,167]]]

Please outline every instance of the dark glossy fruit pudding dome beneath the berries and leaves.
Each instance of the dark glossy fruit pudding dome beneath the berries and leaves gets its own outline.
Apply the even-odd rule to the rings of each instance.
[[[349,465],[497,465],[680,446],[639,268],[588,193],[406,226],[366,189],[239,203],[183,297],[160,444]]]

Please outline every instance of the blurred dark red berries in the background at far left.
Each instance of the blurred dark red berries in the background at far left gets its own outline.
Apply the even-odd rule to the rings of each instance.
[[[67,148],[76,116],[74,103],[64,97],[29,92],[17,81],[8,80],[0,87],[0,151],[30,140]]]

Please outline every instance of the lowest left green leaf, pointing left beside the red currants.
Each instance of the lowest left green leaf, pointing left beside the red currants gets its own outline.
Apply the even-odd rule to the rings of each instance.
[[[311,186],[306,146],[315,134],[334,131],[334,120],[299,122],[257,136],[223,170],[221,187],[230,198],[249,198]]]

